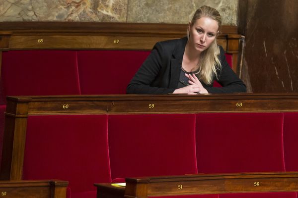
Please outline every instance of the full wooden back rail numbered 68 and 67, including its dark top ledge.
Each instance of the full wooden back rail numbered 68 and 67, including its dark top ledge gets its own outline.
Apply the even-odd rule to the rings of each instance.
[[[0,50],[150,50],[158,41],[185,37],[186,29],[187,24],[0,22]],[[223,26],[218,40],[226,51],[234,53],[237,50],[232,48],[232,40],[237,37],[237,26]]]

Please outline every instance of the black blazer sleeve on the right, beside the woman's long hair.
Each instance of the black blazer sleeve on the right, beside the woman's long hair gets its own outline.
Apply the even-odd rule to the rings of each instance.
[[[246,92],[246,86],[226,62],[224,49],[220,46],[220,61],[222,68],[218,70],[216,81],[223,87],[206,87],[209,93],[241,93]]]

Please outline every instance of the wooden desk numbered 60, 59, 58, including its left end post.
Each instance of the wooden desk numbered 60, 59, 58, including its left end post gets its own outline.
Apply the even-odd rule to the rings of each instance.
[[[295,111],[296,93],[7,97],[0,179],[22,179],[28,115]]]

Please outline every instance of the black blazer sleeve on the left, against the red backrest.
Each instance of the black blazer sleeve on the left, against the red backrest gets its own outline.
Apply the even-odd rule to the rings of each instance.
[[[137,71],[127,86],[127,94],[168,94],[175,89],[151,86],[152,82],[161,74],[162,67],[166,66],[165,49],[160,42],[156,43],[151,53]]]

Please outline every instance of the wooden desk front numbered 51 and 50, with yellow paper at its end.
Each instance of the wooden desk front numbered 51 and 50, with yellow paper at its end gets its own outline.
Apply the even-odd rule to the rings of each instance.
[[[198,174],[127,178],[126,187],[94,184],[97,198],[147,198],[252,192],[298,191],[298,172]]]

